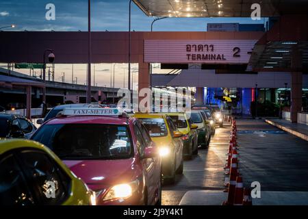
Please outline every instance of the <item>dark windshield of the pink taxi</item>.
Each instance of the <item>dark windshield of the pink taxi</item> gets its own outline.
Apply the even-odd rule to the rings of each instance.
[[[61,159],[125,159],[133,153],[126,125],[43,125],[32,136]]]

